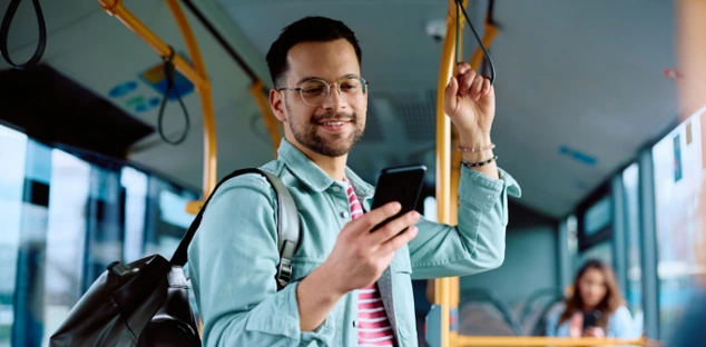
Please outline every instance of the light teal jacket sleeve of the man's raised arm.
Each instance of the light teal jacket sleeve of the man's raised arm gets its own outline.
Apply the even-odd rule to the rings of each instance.
[[[494,269],[504,259],[508,194],[520,197],[514,179],[499,169],[500,179],[461,167],[458,226],[418,222],[409,244],[414,279],[467,276]]]

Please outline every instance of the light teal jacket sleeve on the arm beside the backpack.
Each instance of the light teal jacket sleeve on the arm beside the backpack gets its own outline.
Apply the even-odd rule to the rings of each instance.
[[[215,192],[188,249],[204,346],[330,345],[326,319],[300,330],[297,282],[277,291],[275,192],[264,177],[238,176]]]

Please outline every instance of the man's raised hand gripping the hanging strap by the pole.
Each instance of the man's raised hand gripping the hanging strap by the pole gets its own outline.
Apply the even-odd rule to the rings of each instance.
[[[457,75],[451,77],[443,107],[462,139],[481,146],[489,145],[483,141],[490,142],[490,128],[496,116],[496,91],[490,80],[475,73],[468,62],[460,63]]]

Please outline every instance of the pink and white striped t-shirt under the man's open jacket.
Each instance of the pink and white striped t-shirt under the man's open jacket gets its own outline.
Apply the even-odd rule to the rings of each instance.
[[[363,207],[349,181],[349,207],[351,218],[363,217]],[[394,334],[380,297],[377,284],[357,290],[357,345],[393,346]]]

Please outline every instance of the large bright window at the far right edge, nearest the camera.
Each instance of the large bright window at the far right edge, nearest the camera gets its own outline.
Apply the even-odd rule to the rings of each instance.
[[[700,116],[700,115],[699,115]],[[700,117],[690,117],[653,148],[659,336],[668,338],[692,304],[703,274],[696,246],[703,242],[698,225],[703,185]]]

